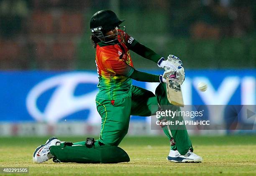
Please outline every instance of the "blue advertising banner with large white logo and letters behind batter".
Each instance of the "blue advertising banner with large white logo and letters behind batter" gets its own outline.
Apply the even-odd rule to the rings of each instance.
[[[154,74],[160,72],[147,71]],[[187,70],[182,84],[184,104],[255,105],[256,70]],[[87,71],[0,72],[0,121],[56,123],[87,121],[99,123],[95,105],[97,73]],[[204,82],[205,92],[197,89]],[[158,83],[134,81],[154,92]],[[131,120],[146,120],[132,117]]]

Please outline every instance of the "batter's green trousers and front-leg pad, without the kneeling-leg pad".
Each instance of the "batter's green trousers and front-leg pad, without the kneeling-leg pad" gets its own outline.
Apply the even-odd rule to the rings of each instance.
[[[156,88],[156,95],[141,87],[132,86],[131,96],[117,100],[96,99],[97,111],[101,116],[101,129],[99,142],[105,145],[118,146],[128,132],[130,116],[147,117],[155,114],[158,104],[171,105],[166,96],[166,84],[159,84]],[[170,107],[170,106],[169,106]],[[172,111],[180,111],[179,107],[171,106]],[[182,117],[174,119],[183,120]],[[162,127],[169,140],[173,137],[175,145],[171,146],[173,150],[178,150],[184,155],[192,144],[187,134],[187,130],[172,129],[169,126]]]

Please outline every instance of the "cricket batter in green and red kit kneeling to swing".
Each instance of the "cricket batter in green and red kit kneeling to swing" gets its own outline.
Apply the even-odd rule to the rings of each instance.
[[[46,144],[38,146],[33,154],[33,161],[42,163],[53,158],[54,162],[77,163],[118,163],[128,162],[128,154],[118,147],[128,132],[131,115],[151,116],[163,105],[169,105],[172,111],[176,107],[168,102],[166,96],[166,77],[175,74],[182,84],[184,68],[180,59],[169,55],[164,59],[148,47],[142,45],[120,27],[124,20],[119,20],[111,10],[100,10],[90,20],[91,40],[96,48],[95,62],[99,75],[99,92],[96,96],[97,111],[101,116],[101,130],[98,140],[87,138],[77,143],[60,141],[52,137]],[[121,30],[122,28],[122,30]],[[163,75],[140,72],[133,67],[129,51],[156,62],[158,67],[168,67]],[[155,94],[141,87],[133,86],[132,79],[142,82],[159,82]],[[183,121],[180,116],[175,120]],[[162,121],[171,120],[162,117]],[[187,129],[172,129],[161,126],[170,141],[167,160],[173,162],[201,162],[202,157],[193,153],[192,143]],[[153,142],[153,141],[152,141]]]

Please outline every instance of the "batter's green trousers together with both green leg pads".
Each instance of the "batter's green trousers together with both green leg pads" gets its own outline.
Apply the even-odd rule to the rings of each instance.
[[[85,146],[86,141],[76,142],[73,146],[51,146],[50,151],[57,161],[78,163],[118,163],[130,161],[128,154],[118,147],[128,132],[130,116],[151,116],[159,110],[159,106],[168,107],[172,111],[180,111],[169,103],[166,96],[166,84],[160,83],[155,94],[141,87],[132,86],[131,96],[116,99],[96,99],[97,111],[101,116],[100,138],[92,148]],[[165,106],[169,105],[169,106]],[[161,109],[165,110],[165,109]],[[183,121],[182,116],[173,119]],[[168,119],[172,120],[172,119]],[[172,126],[162,126],[171,149],[184,155],[190,149],[193,151],[187,129],[172,129]]]

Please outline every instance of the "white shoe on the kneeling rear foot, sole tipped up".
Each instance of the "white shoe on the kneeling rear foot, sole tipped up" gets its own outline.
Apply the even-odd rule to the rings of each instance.
[[[46,141],[44,145],[38,146],[33,154],[34,163],[43,163],[52,158],[50,153],[50,146],[56,146],[56,144],[61,143],[56,137],[51,137]]]

